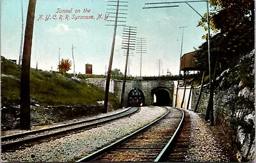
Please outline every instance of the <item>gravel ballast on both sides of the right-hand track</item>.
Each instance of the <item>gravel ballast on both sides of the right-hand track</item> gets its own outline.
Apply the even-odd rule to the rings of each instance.
[[[214,138],[210,126],[193,111],[188,111],[191,118],[191,134],[186,162],[230,162]],[[95,148],[107,145],[115,139],[149,124],[166,113],[164,108],[141,107],[140,112],[130,117],[115,120],[60,139],[31,146],[16,152],[2,153],[2,160],[7,162],[68,162]]]

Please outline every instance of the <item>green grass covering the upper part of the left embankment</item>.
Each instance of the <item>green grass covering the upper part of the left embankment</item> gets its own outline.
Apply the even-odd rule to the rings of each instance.
[[[1,78],[1,102],[2,104],[17,104],[20,98],[20,73],[17,73],[19,66],[8,60],[2,61],[4,71],[1,73],[12,76]],[[97,101],[104,100],[104,90],[88,85],[84,80],[76,81],[58,72],[36,71],[35,69],[31,69],[30,74],[31,99],[38,101],[40,105],[85,105],[97,104]],[[110,94],[109,101],[116,103],[118,99]]]

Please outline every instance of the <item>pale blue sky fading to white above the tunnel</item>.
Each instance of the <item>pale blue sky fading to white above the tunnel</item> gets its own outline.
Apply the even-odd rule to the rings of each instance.
[[[196,27],[200,16],[187,4],[179,3],[176,8],[142,9],[145,3],[166,2],[163,0],[126,0],[126,25],[137,27],[137,37],[147,39],[147,53],[142,55],[142,76],[158,76],[159,59],[161,74],[179,74],[179,57],[184,29],[182,54],[192,52],[194,47],[204,43],[201,38],[206,33],[202,27]],[[172,1],[172,0],[171,0]],[[170,1],[168,1],[170,2]],[[22,0],[24,9],[24,31],[28,0]],[[108,15],[106,0],[37,0],[35,26],[33,32],[33,47],[31,52],[31,67],[46,71],[57,71],[60,48],[60,59],[72,60],[72,44],[74,45],[74,60],[76,73],[85,73],[85,64],[93,65],[93,74],[104,74],[108,68],[109,56],[113,39],[113,20]],[[206,13],[206,3],[190,3],[198,13]],[[168,4],[170,5],[170,4]],[[71,13],[56,13],[60,10],[71,10]],[[83,13],[87,9],[90,12]],[[76,11],[80,10],[80,13]],[[108,10],[109,11],[109,10]],[[97,17],[102,14],[102,18]],[[42,17],[40,17],[42,15]],[[49,17],[50,15],[50,17]],[[56,15],[56,16],[54,16]],[[58,19],[62,15],[62,20]],[[65,18],[68,15],[68,20]],[[73,15],[93,16],[95,19],[72,19]],[[121,15],[120,15],[121,16]],[[123,16],[123,15],[122,15]],[[49,17],[51,20],[46,20]],[[44,20],[42,19],[44,18]],[[56,19],[54,19],[56,18]],[[121,20],[121,19],[120,19]],[[123,19],[122,19],[123,20]],[[21,0],[1,1],[1,55],[7,59],[19,59],[21,36]],[[124,73],[125,55],[122,45],[123,26],[116,31],[115,53],[112,69],[118,68]],[[132,76],[140,76],[140,53],[131,57],[130,71]],[[73,62],[73,60],[72,60]],[[73,73],[72,69],[68,73]]]

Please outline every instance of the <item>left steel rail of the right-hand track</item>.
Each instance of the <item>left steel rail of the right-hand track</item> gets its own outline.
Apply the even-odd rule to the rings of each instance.
[[[90,160],[95,159],[96,157],[98,157],[99,155],[102,155],[102,153],[107,152],[109,149],[111,148],[115,148],[115,146],[120,145],[121,143],[124,143],[124,141],[126,141],[127,139],[131,139],[133,136],[135,136],[136,134],[145,131],[146,129],[148,129],[149,127],[151,127],[152,125],[156,124],[157,122],[159,122],[159,120],[162,120],[164,117],[166,117],[166,115],[168,115],[170,113],[170,110],[167,109],[167,113],[165,113],[162,117],[158,118],[157,120],[155,120],[154,122],[146,125],[145,127],[138,129],[135,132],[132,132],[131,134],[129,134],[128,136],[125,136],[122,139],[119,139],[118,141],[115,141],[114,143],[112,143],[111,145],[105,146],[104,148],[101,148],[100,150],[97,150],[96,152],[91,153],[90,155],[87,155],[86,157],[83,157],[82,159],[77,160],[76,162],[88,162]]]

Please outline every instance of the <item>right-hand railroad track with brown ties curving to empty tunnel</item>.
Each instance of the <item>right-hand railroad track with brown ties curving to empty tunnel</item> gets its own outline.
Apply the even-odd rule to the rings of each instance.
[[[184,112],[168,107],[168,113],[151,124],[105,146],[77,162],[158,162],[166,160],[184,120]]]

